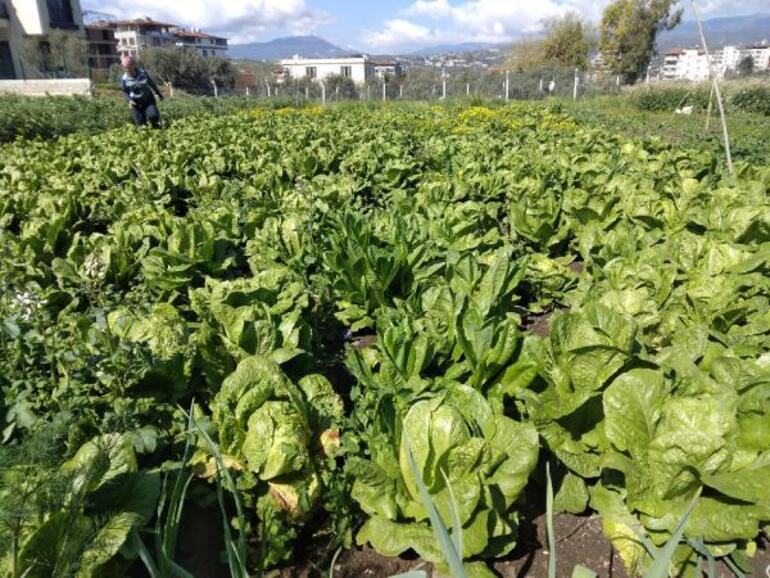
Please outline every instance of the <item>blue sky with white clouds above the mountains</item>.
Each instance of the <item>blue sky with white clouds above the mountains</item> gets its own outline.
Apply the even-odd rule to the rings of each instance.
[[[704,18],[770,12],[770,0],[697,0]],[[544,19],[579,12],[597,21],[609,0],[81,0],[117,17],[150,16],[263,42],[315,34],[344,48],[389,52],[460,42],[507,42]],[[690,2],[680,2],[685,18]]]

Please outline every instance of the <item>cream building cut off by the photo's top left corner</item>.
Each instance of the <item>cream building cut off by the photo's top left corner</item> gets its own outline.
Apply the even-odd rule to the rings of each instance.
[[[43,74],[22,56],[25,38],[45,42],[54,30],[84,35],[78,0],[0,0],[0,79]]]

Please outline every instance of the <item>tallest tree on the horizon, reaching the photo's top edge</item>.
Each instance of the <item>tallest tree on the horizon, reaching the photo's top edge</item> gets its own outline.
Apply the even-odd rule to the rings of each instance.
[[[677,0],[614,0],[604,10],[599,49],[612,72],[634,83],[647,72],[655,55],[658,32],[682,20]]]

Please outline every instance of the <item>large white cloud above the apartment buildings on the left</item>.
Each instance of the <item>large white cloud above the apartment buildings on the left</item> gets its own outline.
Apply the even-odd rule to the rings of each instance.
[[[95,1],[95,0],[94,0]],[[197,26],[224,34],[232,42],[249,42],[270,29],[307,34],[327,24],[330,15],[308,6],[306,0],[107,0],[92,7],[123,18],[150,16],[155,20]]]

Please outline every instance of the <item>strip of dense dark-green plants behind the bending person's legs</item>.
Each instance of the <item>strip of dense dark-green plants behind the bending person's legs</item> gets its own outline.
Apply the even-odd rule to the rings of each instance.
[[[259,104],[258,104],[259,103]],[[269,103],[276,106],[278,103]],[[286,105],[285,101],[281,101]],[[175,98],[161,104],[166,121],[195,114],[222,114],[232,110],[265,106],[246,97]],[[128,106],[120,97],[30,98],[0,96],[0,142],[17,138],[51,139],[75,132],[96,133],[130,122]]]

